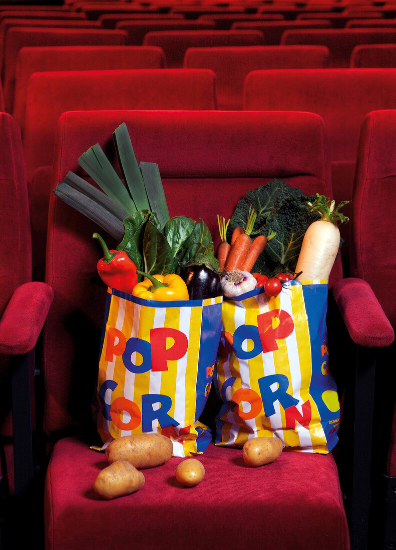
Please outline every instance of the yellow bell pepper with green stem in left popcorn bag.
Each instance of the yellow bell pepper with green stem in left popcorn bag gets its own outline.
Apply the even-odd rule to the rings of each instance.
[[[143,271],[137,271],[137,273],[144,275],[145,279],[135,285],[132,290],[133,296],[159,301],[189,299],[187,285],[176,273],[154,276]]]

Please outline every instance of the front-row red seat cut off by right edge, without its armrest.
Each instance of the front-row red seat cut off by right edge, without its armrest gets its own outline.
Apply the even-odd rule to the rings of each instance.
[[[373,111],[361,127],[357,153],[351,224],[351,274],[367,281],[396,328],[396,243],[389,219],[396,213],[396,110]],[[376,378],[377,445],[374,447],[376,491],[374,536],[383,548],[396,537],[396,411],[395,345],[378,361]],[[379,527],[379,529],[378,529]]]

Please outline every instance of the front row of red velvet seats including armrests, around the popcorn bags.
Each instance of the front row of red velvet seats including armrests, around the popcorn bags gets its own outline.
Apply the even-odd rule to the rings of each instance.
[[[340,260],[330,277],[328,328],[333,368],[340,377],[339,389],[345,386],[346,428],[341,432],[338,452],[284,452],[273,465],[246,469],[239,450],[210,445],[200,457],[206,471],[205,483],[193,491],[181,490],[171,481],[175,461],[180,460],[175,459],[160,469],[146,470],[144,490],[104,502],[95,497],[92,484],[105,462],[89,448],[96,441],[90,397],[106,293],[95,277],[97,250],[92,246],[91,234],[97,227],[51,194],[46,278],[44,283],[29,283],[28,187],[22,142],[15,120],[9,114],[0,114],[2,150],[7,153],[0,180],[2,196],[8,198],[1,202],[1,208],[2,216],[9,219],[7,227],[13,228],[8,239],[1,240],[4,256],[12,260],[2,262],[4,282],[9,281],[8,287],[2,288],[2,359],[9,354],[28,353],[46,317],[44,337],[36,347],[40,357],[37,370],[42,369],[45,382],[44,410],[39,404],[43,416],[37,417],[42,425],[37,431],[44,431],[47,443],[41,463],[46,480],[43,485],[41,479],[35,488],[35,508],[26,514],[34,525],[28,530],[17,530],[14,525],[13,543],[18,543],[26,531],[29,540],[34,536],[40,541],[43,523],[48,549],[96,548],[103,541],[111,541],[113,548],[133,541],[138,547],[165,549],[185,540],[186,524],[191,521],[199,525],[189,535],[194,537],[192,546],[197,549],[207,548],[213,541],[219,548],[260,544],[268,550],[348,550],[350,541],[352,548],[366,548],[369,534],[374,535],[376,543],[370,547],[382,547],[384,529],[388,538],[394,536],[392,516],[386,525],[378,524],[384,515],[373,514],[369,502],[382,474],[375,470],[373,480],[370,478],[371,464],[382,464],[382,457],[371,455],[371,441],[377,439],[376,429],[372,432],[375,361],[382,369],[379,379],[385,382],[379,398],[387,409],[392,403],[392,369],[386,369],[384,361],[392,357],[389,345],[394,339],[394,300],[387,288],[394,281],[395,250],[383,212],[393,216],[396,204],[392,186],[395,149],[391,147],[396,141],[395,121],[396,111],[373,112],[362,125],[351,216],[352,278],[343,278]],[[225,111],[64,113],[56,133],[52,186],[69,170],[83,175],[77,158],[95,142],[113,158],[111,135],[121,122],[127,124],[138,160],[158,163],[170,215],[203,217],[216,235],[216,245],[216,214],[222,212],[229,217],[247,189],[268,179],[280,177],[307,194],[317,191],[332,196],[323,119],[312,113],[290,111],[238,111],[232,117]],[[391,152],[386,159],[384,140]],[[200,197],[210,196],[210,200],[197,201],[197,185]],[[16,226],[13,219],[20,223]],[[18,270],[24,273],[15,279]],[[27,305],[29,300],[31,306]],[[364,316],[360,314],[362,304]],[[354,353],[347,353],[348,349]],[[382,360],[378,352],[384,354]],[[351,383],[355,376],[356,387]],[[355,412],[351,411],[351,401],[355,402]],[[351,423],[354,428],[348,430]],[[24,443],[27,441],[25,437]],[[354,457],[352,471],[349,452]],[[28,458],[24,454],[25,466]],[[6,473],[3,471],[3,475]],[[26,468],[22,473],[26,491],[32,478],[26,477]],[[395,474],[392,452],[385,473],[389,498]],[[18,468],[15,475],[20,475]],[[15,481],[20,491],[19,478]],[[41,491],[44,508],[40,507]],[[237,498],[230,498],[236,491]],[[376,502],[381,504],[383,500]],[[385,513],[386,509],[381,511]],[[20,514],[18,508],[17,512]],[[219,521],[219,516],[227,521]],[[279,525],[287,525],[287,529],[280,530]]]

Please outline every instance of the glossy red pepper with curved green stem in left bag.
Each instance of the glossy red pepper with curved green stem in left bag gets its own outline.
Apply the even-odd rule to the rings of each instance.
[[[97,262],[97,272],[102,281],[111,288],[132,294],[138,283],[137,267],[123,250],[109,250],[98,233],[92,235],[102,245],[104,257]]]

